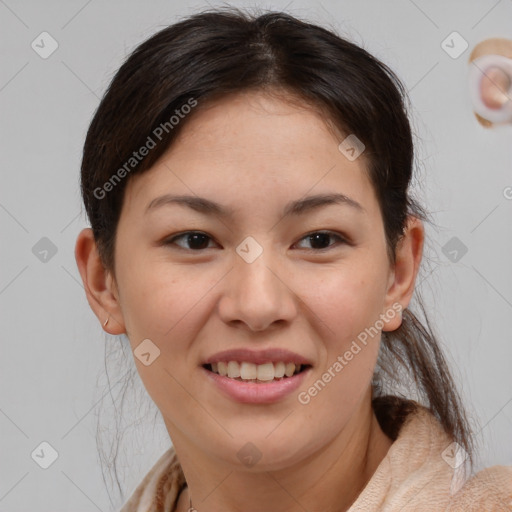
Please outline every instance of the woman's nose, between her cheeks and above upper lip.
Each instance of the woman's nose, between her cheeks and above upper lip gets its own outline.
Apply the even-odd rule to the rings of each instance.
[[[234,254],[218,306],[224,322],[257,332],[289,323],[297,315],[300,299],[293,277],[270,253],[265,249],[252,262]]]

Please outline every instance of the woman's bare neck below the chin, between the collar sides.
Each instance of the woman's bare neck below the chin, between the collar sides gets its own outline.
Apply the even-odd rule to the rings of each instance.
[[[180,440],[173,436],[187,488],[177,512],[344,512],[392,444],[378,424],[369,394],[346,427],[321,450],[276,471],[258,473],[205,461],[204,454],[192,453]]]

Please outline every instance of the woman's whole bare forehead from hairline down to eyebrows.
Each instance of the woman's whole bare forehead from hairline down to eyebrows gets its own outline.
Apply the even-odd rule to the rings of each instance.
[[[198,108],[198,107],[196,107]],[[350,161],[318,110],[262,92],[226,96],[198,108],[152,169],[130,180],[127,201],[144,206],[165,192],[252,204],[289,202],[309,192],[345,194],[371,213],[366,160]],[[228,199],[229,198],[229,199]],[[139,205],[141,206],[141,205]]]

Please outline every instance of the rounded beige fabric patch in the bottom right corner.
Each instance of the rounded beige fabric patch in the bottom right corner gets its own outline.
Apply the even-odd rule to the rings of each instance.
[[[455,493],[448,511],[512,511],[512,466],[493,466],[471,477]]]

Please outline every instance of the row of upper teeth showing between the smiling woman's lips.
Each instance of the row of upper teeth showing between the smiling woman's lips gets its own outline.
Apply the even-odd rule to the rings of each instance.
[[[288,379],[311,368],[309,364],[276,363],[254,364],[238,361],[219,361],[218,363],[204,364],[203,368],[216,373],[221,377],[241,382],[275,382]]]

